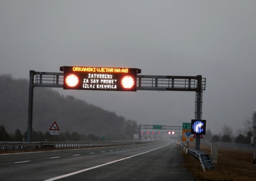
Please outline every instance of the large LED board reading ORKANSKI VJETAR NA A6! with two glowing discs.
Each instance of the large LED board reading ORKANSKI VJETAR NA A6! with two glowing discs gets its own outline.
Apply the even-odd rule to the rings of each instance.
[[[63,89],[98,91],[136,91],[141,69],[106,67],[60,67],[64,71]]]

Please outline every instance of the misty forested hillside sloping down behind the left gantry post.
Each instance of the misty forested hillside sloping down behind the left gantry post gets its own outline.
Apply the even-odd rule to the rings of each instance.
[[[0,125],[8,133],[17,129],[27,131],[28,80],[0,75]],[[113,139],[132,139],[138,133],[138,125],[100,107],[72,96],[64,97],[50,88],[34,89],[33,129],[49,131],[56,121],[60,133],[68,130],[79,134],[111,136]]]

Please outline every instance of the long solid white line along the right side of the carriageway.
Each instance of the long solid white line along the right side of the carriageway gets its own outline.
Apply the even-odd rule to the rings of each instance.
[[[171,144],[171,143],[169,143],[169,144]],[[72,173],[69,173],[69,174],[66,174],[66,175],[61,175],[61,176],[58,176],[58,177],[49,178],[49,179],[44,180],[44,181],[53,181],[53,180],[57,180],[57,179],[64,178],[64,177],[68,177],[68,176],[71,176],[71,175],[75,175],[75,174],[78,174],[78,173],[81,173],[81,172],[84,172],[84,171],[96,169],[96,168],[98,168],[98,167],[102,167],[102,166],[105,166],[105,165],[108,165],[108,164],[111,164],[111,163],[116,163],[116,162],[119,162],[119,161],[122,161],[122,160],[126,160],[126,159],[129,159],[129,158],[132,158],[132,157],[134,157],[134,156],[139,156],[139,155],[142,155],[142,154],[145,154],[145,153],[148,153],[148,152],[151,152],[151,151],[160,149],[160,148],[164,148],[164,147],[168,146],[169,144],[164,145],[164,146],[159,147],[159,148],[155,148],[155,149],[152,149],[152,150],[143,152],[143,153],[139,153],[139,154],[137,154],[137,155],[128,156],[128,157],[126,157],[126,158],[122,158],[122,159],[115,160],[115,161],[112,161],[112,162],[104,163],[104,164],[97,165],[97,166],[94,166],[94,167],[91,167],[91,168],[87,168],[87,169],[83,169],[83,170],[78,170],[78,171],[75,171],[75,172],[72,172]]]

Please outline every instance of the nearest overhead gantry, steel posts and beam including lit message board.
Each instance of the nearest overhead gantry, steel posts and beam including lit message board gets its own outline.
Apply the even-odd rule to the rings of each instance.
[[[106,67],[60,67],[63,72],[29,73],[28,142],[31,141],[34,87],[60,87],[73,90],[101,91],[195,91],[195,119],[202,114],[202,76],[147,76],[137,75],[141,69]],[[200,135],[196,135],[196,149],[200,148]]]

